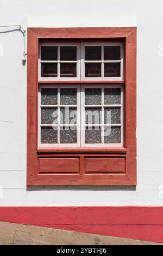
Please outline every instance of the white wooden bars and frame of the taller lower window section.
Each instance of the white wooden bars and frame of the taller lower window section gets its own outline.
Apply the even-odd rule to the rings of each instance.
[[[102,88],[102,105],[86,105],[85,106],[85,88]],[[41,105],[41,88],[77,88],[77,105],[71,105],[71,107],[77,106],[77,143],[74,144],[59,144],[59,136],[58,136],[58,144],[41,144],[41,126],[42,127],[52,127],[52,124],[41,124],[41,106],[43,108],[48,107],[54,107],[58,108],[59,106],[59,98],[58,98],[58,105]],[[114,127],[121,127],[121,143],[115,143],[115,144],[104,144],[104,130],[102,128],[102,144],[85,144],[85,107],[86,108],[93,108],[93,107],[101,107],[102,108],[102,126],[105,126],[104,124],[104,106],[103,106],[103,99],[104,99],[104,88],[121,88],[121,104],[120,105],[105,105],[105,107],[118,107],[121,108],[121,124],[109,124],[107,126],[114,126]],[[58,92],[59,95],[59,92]],[[124,85],[122,84],[84,84],[84,85],[73,85],[73,84],[60,84],[60,85],[49,85],[49,84],[43,84],[39,86],[39,100],[38,100],[38,147],[43,148],[70,148],[70,147],[123,147],[123,141],[124,141],[124,130],[123,130],[123,123],[124,123]],[[62,107],[66,105],[61,105]],[[59,111],[59,108],[58,108]],[[58,113],[59,114],[59,113]],[[59,115],[58,115],[59,116]],[[60,125],[60,126],[66,126],[66,125]],[[68,126],[68,125],[67,125]],[[92,124],[92,127],[94,125]],[[59,126],[58,126],[59,129]]]

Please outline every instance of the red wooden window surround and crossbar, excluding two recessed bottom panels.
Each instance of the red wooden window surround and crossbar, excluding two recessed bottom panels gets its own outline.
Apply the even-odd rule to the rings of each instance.
[[[40,38],[49,39],[89,39],[89,38],[116,38],[126,40],[126,72],[125,72],[125,92],[126,92],[126,113],[125,113],[125,145],[124,148],[115,148],[93,151],[74,152],[74,149],[66,150],[43,150],[37,149],[37,91],[38,91],[38,42]],[[57,82],[57,81],[56,81]],[[60,81],[63,83],[64,81]],[[70,82],[70,81],[69,81]],[[73,81],[77,83],[77,81]],[[79,82],[79,81],[78,81]],[[85,81],[88,83],[87,81]],[[92,81],[89,81],[92,83]],[[105,82],[105,81],[104,81]],[[112,81],[109,81],[112,83]],[[115,82],[115,81],[114,81]],[[124,81],[117,81],[124,82]],[[42,83],[42,81],[41,81]],[[46,83],[43,81],[43,83]],[[54,83],[54,82],[53,82]],[[80,82],[81,83],[81,82]],[[95,83],[93,81],[93,83]],[[116,27],[116,28],[28,28],[28,92],[27,92],[27,185],[130,185],[136,184],[136,27]],[[47,151],[48,150],[48,151]],[[101,153],[113,154],[113,156],[126,155],[126,173],[125,174],[83,174],[83,168],[80,163],[80,175],[62,174],[49,175],[38,174],[39,156],[54,156],[54,153],[61,153],[69,156],[69,153],[79,153],[82,161],[87,154]],[[69,153],[68,153],[69,152]],[[96,156],[98,155],[96,154]],[[83,161],[84,162],[84,161]]]

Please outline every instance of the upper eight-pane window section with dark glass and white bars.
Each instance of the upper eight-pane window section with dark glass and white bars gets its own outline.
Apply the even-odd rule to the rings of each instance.
[[[46,59],[46,56],[42,55],[41,49],[43,46],[56,47],[57,53],[55,50],[53,52],[54,60],[51,58]],[[64,49],[64,46],[77,47],[76,59],[71,61],[62,60],[60,50]],[[107,46],[112,46],[113,49],[114,47],[120,47],[120,52],[117,51],[117,56],[114,59],[105,57]],[[93,59],[87,57],[91,56],[91,54],[89,55],[91,47],[97,48],[97,50],[100,49],[99,52],[95,51],[96,56]],[[69,77],[64,77],[64,71],[68,68],[68,64],[71,64],[69,68],[72,69],[73,74]],[[39,81],[122,81],[124,79],[124,44],[120,42],[40,43],[38,69]],[[47,71],[45,77],[42,75],[43,70]],[[92,70],[95,70],[95,73],[97,73],[95,76],[89,74]],[[115,76],[114,73],[116,74]]]

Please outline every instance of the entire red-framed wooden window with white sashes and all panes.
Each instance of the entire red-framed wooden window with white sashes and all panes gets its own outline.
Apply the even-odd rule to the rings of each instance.
[[[28,28],[27,185],[136,184],[136,28]]]

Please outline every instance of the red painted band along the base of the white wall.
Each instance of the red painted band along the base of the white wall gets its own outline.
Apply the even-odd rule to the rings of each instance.
[[[0,221],[163,242],[163,207],[0,207]]]

